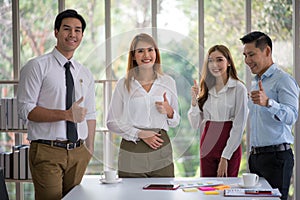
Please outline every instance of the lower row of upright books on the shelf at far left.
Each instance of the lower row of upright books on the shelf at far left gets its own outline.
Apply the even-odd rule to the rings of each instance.
[[[0,167],[4,169],[6,179],[31,179],[29,169],[29,145],[17,145],[11,152],[0,153]]]

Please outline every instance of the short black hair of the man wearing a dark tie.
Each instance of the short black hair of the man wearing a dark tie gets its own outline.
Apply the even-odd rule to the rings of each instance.
[[[82,32],[84,32],[84,29],[86,27],[85,20],[83,19],[83,17],[80,14],[77,13],[76,10],[72,10],[72,9],[64,10],[56,16],[55,23],[54,23],[54,30],[59,31],[59,28],[61,26],[61,22],[65,18],[79,19],[80,22],[81,22],[81,25],[82,25]]]

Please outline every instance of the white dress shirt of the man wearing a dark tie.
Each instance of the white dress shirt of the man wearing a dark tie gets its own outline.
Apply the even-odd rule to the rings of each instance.
[[[64,64],[68,60],[56,49],[48,54],[28,61],[21,69],[18,84],[18,113],[28,120],[28,114],[36,107],[66,110],[66,83]],[[74,79],[75,100],[81,96],[80,106],[87,108],[83,122],[77,123],[78,139],[86,139],[86,120],[96,119],[95,86],[92,73],[80,63],[71,59],[71,73]],[[66,140],[66,121],[33,122],[28,120],[29,140]]]

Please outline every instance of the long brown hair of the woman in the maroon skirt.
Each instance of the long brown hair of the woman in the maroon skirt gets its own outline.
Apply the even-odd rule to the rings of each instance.
[[[208,98],[208,91],[215,86],[216,78],[210,73],[208,69],[208,57],[212,52],[219,51],[226,58],[229,66],[227,67],[227,76],[235,80],[240,80],[237,76],[236,68],[233,62],[233,58],[229,49],[224,45],[215,45],[208,50],[208,54],[205,58],[200,80],[200,94],[198,98],[198,105],[201,111],[203,111],[203,105]]]

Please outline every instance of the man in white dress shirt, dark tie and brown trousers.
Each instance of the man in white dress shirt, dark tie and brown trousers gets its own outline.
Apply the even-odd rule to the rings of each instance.
[[[18,113],[28,121],[29,162],[37,200],[61,199],[78,185],[94,151],[94,79],[73,59],[85,26],[75,10],[58,14],[53,51],[28,61],[21,69]],[[75,88],[75,102],[70,109],[66,109],[67,62]],[[67,121],[76,123],[75,142],[67,139]]]

